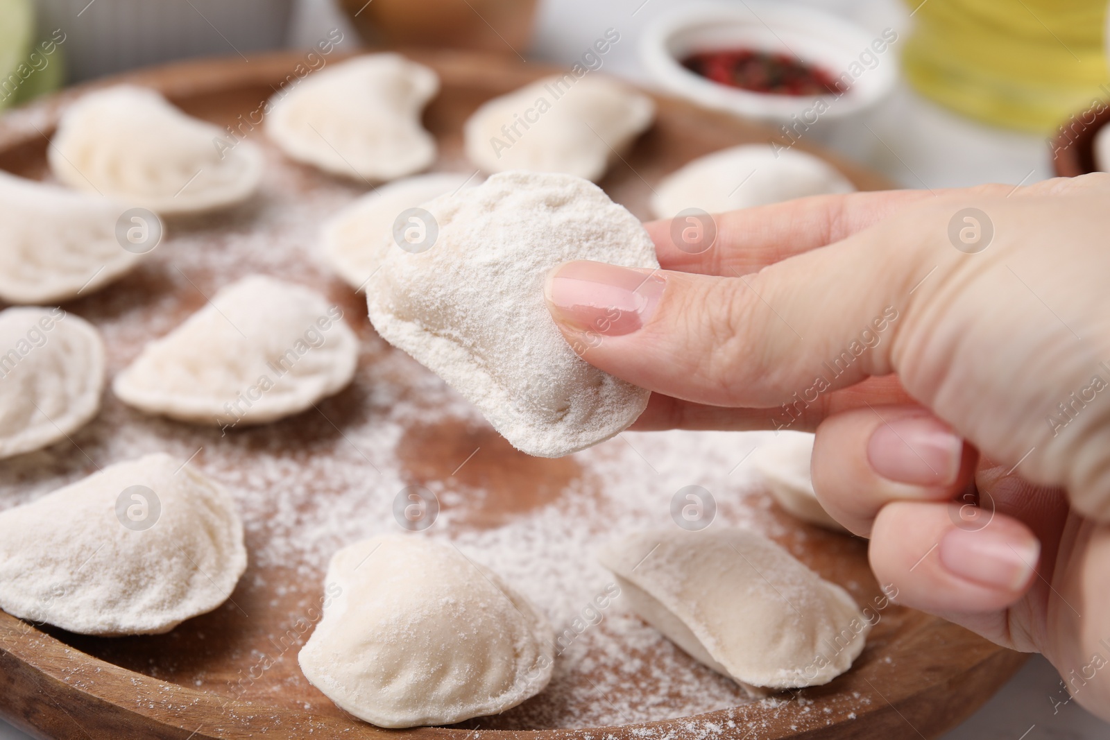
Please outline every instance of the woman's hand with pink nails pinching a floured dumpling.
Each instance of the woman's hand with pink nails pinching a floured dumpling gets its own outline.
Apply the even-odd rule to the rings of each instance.
[[[899,602],[1041,651],[1110,719],[1110,175],[648,224],[552,315],[653,391],[635,428],[815,429],[814,487]]]

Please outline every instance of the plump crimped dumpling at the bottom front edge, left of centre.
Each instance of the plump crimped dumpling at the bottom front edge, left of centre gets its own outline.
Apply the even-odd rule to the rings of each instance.
[[[367,539],[335,554],[325,584],[301,670],[360,719],[451,724],[503,712],[551,680],[547,619],[454,546]]]

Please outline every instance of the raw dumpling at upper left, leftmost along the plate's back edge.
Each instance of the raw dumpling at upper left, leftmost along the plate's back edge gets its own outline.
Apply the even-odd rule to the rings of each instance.
[[[62,115],[50,169],[67,185],[161,214],[245,201],[262,181],[262,151],[185,115],[154,90],[115,85],[84,94]]]

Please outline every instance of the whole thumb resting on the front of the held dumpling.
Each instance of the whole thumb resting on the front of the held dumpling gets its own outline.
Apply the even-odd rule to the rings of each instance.
[[[906,249],[889,259],[889,242],[864,234],[726,277],[568,262],[548,276],[547,304],[584,359],[653,392],[716,406],[815,403],[892,372],[908,297],[935,265]]]

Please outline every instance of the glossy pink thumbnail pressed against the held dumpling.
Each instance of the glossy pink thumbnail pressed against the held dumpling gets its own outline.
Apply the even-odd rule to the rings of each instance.
[[[620,336],[652,318],[665,286],[658,274],[577,261],[552,271],[544,294],[558,323],[579,332]]]

